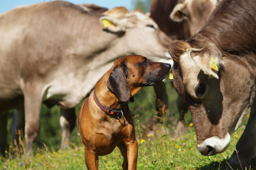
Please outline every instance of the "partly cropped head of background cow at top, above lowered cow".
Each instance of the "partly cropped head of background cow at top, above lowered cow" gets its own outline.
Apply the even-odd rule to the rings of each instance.
[[[192,36],[201,29],[218,3],[218,0],[185,0],[173,8],[170,18],[176,22],[185,20]]]

